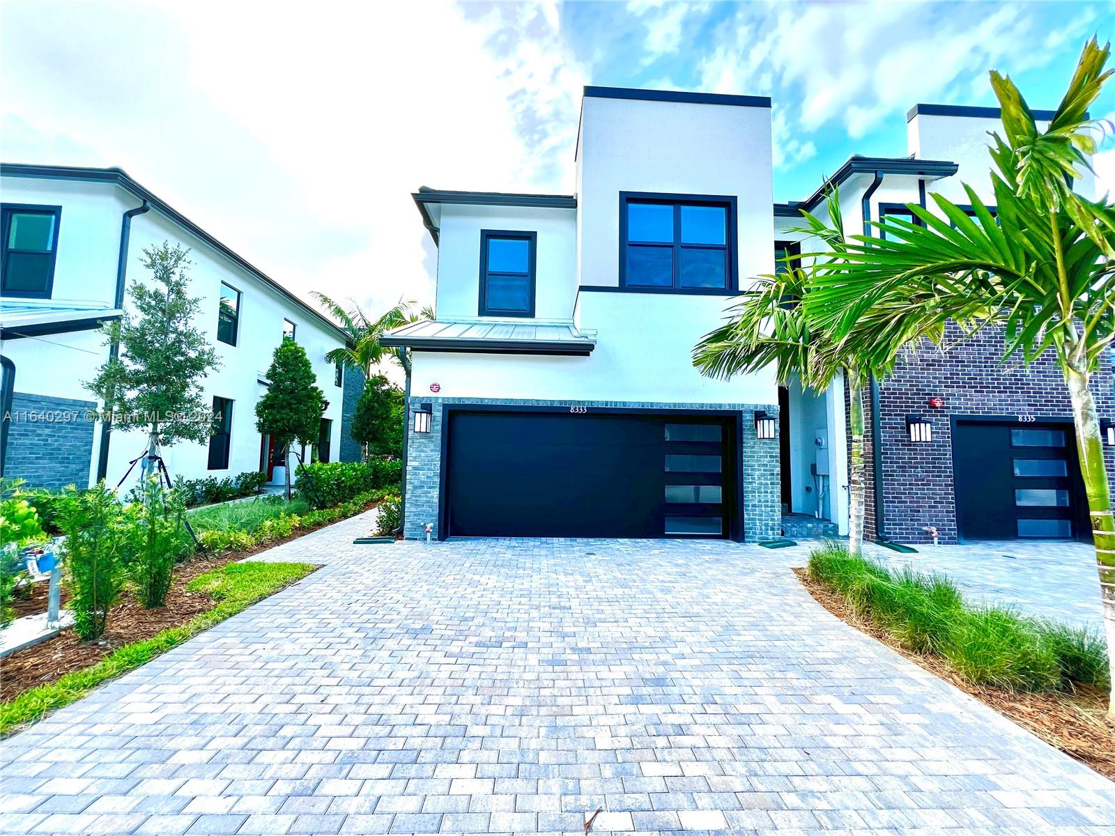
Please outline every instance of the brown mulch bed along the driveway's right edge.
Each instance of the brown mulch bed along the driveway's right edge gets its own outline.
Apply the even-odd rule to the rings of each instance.
[[[943,659],[906,650],[874,622],[857,616],[844,599],[811,581],[804,568],[795,568],[794,574],[817,603],[841,621],[878,639],[1069,757],[1115,779],[1115,723],[1106,718],[1108,698],[1103,691],[1082,686],[1073,693],[1010,693],[998,688],[975,686],[961,678]]]

